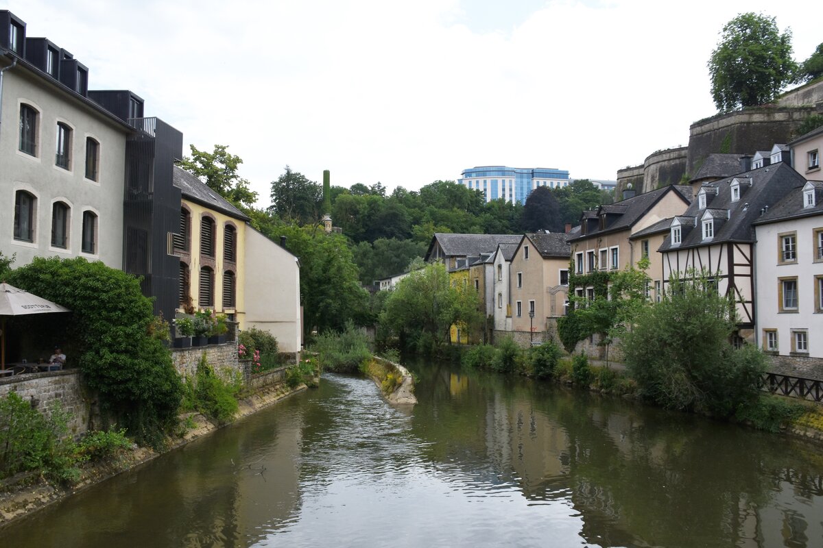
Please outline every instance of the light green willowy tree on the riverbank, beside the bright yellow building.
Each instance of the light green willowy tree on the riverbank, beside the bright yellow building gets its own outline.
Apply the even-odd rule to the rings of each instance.
[[[482,320],[479,308],[473,288],[453,286],[444,265],[430,264],[400,280],[386,299],[380,324],[400,339],[402,347],[430,350],[449,341],[451,325],[477,329]]]

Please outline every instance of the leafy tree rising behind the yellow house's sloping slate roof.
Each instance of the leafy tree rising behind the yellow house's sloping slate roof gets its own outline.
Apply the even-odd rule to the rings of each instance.
[[[258,194],[249,187],[249,181],[239,176],[238,168],[243,160],[230,154],[227,145],[214,145],[214,152],[198,150],[194,145],[191,157],[184,156],[179,166],[192,173],[209,188],[238,207],[251,208]]]

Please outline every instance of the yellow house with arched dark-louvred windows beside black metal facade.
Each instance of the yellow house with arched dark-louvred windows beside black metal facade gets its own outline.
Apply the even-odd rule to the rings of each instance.
[[[179,310],[212,309],[244,329],[245,230],[249,218],[198,177],[174,167],[180,189],[179,234],[174,254],[180,257]]]

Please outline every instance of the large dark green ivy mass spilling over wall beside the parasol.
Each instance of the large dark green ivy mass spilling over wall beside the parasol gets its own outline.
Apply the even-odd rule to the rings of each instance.
[[[183,386],[170,350],[149,334],[151,300],[138,280],[101,262],[37,257],[8,282],[72,311],[59,323],[61,335],[102,411],[138,441],[162,444]]]

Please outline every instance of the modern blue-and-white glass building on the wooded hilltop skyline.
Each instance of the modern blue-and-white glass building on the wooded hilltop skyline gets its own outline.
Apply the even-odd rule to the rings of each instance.
[[[569,172],[555,168],[507,168],[500,165],[464,169],[458,183],[476,191],[483,191],[486,201],[499,200],[526,202],[537,187],[568,187]]]

